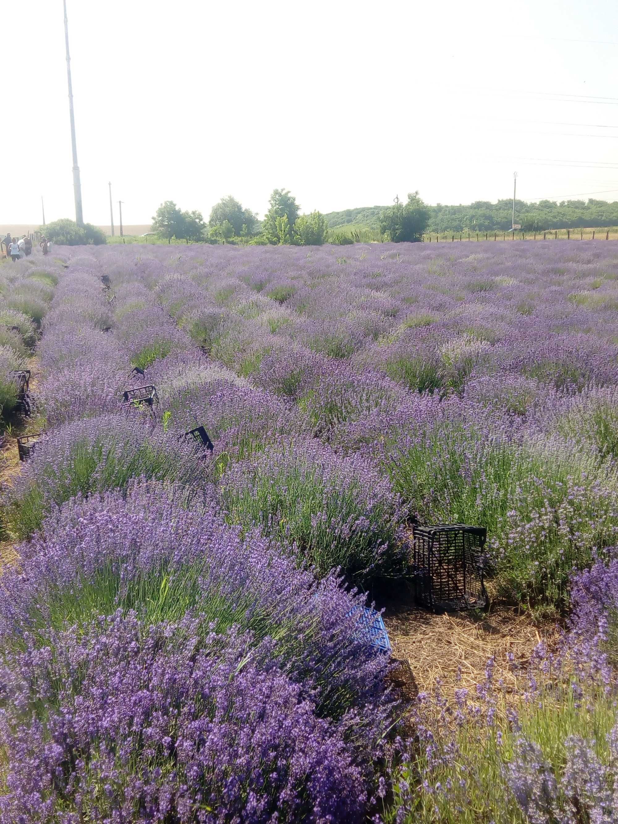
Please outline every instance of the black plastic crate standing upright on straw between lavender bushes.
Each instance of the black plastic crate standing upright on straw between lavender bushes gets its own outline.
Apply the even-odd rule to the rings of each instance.
[[[463,523],[414,527],[417,597],[433,611],[484,609],[487,530]]]

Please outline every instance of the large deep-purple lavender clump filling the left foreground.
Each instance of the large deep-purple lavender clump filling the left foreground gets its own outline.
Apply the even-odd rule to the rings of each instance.
[[[0,603],[7,821],[368,818],[393,705],[363,599],[241,540],[208,497],[73,501],[19,548]]]

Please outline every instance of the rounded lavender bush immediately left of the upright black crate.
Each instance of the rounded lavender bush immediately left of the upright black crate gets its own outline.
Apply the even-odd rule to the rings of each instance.
[[[222,477],[232,522],[261,527],[293,545],[321,575],[353,581],[400,573],[405,510],[391,485],[360,456],[341,458],[316,442],[266,450]]]

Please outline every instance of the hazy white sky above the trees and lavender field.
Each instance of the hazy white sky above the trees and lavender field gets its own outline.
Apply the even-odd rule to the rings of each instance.
[[[2,9],[0,224],[38,225],[41,194],[74,218],[62,0]],[[68,0],[68,28],[88,222],[108,180],[127,225],[225,194],[261,216],[275,187],[495,200],[514,170],[522,199],[618,199],[615,0]]]

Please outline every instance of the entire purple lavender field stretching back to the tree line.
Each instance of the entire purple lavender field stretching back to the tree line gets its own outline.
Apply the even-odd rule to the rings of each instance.
[[[618,822],[618,243],[58,247],[0,361],[0,824]],[[370,643],[413,523],[559,625],[508,684]]]

